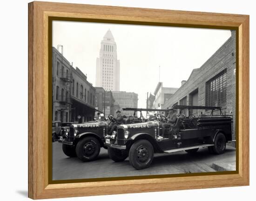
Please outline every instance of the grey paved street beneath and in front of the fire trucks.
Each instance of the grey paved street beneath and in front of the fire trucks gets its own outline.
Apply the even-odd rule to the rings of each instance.
[[[223,169],[224,165],[228,170],[235,170],[235,163],[236,149],[227,146],[222,155],[211,155],[207,148],[199,149],[194,156],[185,151],[155,154],[148,169],[136,170],[129,164],[128,158],[124,162],[109,159],[108,151],[104,148],[101,148],[96,161],[81,162],[78,158],[67,157],[62,152],[61,143],[53,143],[53,180],[214,172],[227,170]]]

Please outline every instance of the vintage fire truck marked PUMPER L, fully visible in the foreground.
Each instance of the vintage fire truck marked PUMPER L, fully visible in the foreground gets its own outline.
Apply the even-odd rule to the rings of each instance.
[[[136,108],[123,110],[149,111]],[[210,153],[222,154],[226,143],[232,140],[232,116],[223,115],[220,107],[175,105],[167,110],[150,111],[168,110],[207,110],[210,114],[177,114],[175,124],[168,129],[162,127],[162,124],[167,122],[163,114],[157,115],[161,118],[141,123],[121,124],[116,133],[106,136],[105,146],[108,147],[109,157],[115,162],[120,162],[129,156],[129,162],[135,169],[145,169],[153,161],[154,153],[184,150],[192,154],[199,148],[208,147]],[[220,114],[213,115],[217,110]]]

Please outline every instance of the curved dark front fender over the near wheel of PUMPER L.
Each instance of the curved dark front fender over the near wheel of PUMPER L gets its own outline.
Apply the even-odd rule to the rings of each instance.
[[[137,140],[145,139],[148,140],[152,146],[154,147],[155,152],[163,153],[163,150],[159,147],[159,145],[156,143],[155,138],[149,135],[148,133],[137,133],[134,136],[131,136],[128,138],[127,146],[130,148],[130,146]]]

